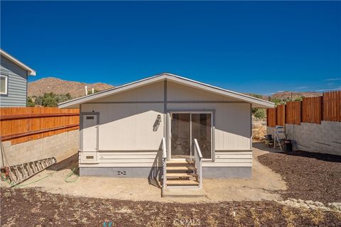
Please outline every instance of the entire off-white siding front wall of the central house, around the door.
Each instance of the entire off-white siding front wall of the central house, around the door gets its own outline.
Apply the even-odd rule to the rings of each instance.
[[[80,167],[161,166],[163,87],[156,82],[82,104],[83,113],[99,112],[99,152],[98,164],[80,162]],[[167,90],[168,111],[213,111],[215,162],[203,162],[203,167],[251,167],[251,104],[176,83],[168,82]],[[158,115],[161,123],[153,131]]]

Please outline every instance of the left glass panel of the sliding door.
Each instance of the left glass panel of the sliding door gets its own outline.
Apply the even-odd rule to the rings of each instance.
[[[171,158],[189,158],[190,144],[190,114],[171,114]]]

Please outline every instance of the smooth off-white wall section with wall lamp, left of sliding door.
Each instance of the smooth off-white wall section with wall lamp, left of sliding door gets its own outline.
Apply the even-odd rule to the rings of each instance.
[[[158,150],[163,138],[163,104],[83,104],[83,112],[99,112],[99,150]]]

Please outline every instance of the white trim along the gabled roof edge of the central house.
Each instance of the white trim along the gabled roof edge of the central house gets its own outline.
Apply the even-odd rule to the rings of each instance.
[[[128,91],[130,89],[135,89],[137,87],[141,87],[141,86],[144,86],[147,84],[151,84],[151,83],[159,82],[159,81],[163,81],[163,80],[175,82],[178,84],[185,84],[189,87],[194,87],[196,89],[201,89],[201,90],[204,90],[207,92],[220,94],[222,96],[228,96],[230,98],[237,99],[239,101],[245,101],[245,102],[252,104],[253,107],[273,108],[275,106],[275,104],[272,103],[271,101],[265,101],[262,99],[254,98],[252,96],[248,96],[246,94],[241,94],[238,92],[232,92],[232,91],[229,91],[227,89],[222,89],[220,87],[215,87],[215,86],[212,86],[210,84],[204,84],[202,82],[197,82],[193,79],[180,77],[180,76],[175,75],[175,74],[163,73],[163,74],[158,74],[158,75],[153,76],[153,77],[148,77],[146,79],[141,79],[141,80],[138,80],[136,82],[131,82],[129,84],[124,84],[124,85],[121,85],[119,87],[107,89],[107,90],[104,90],[102,92],[97,92],[97,93],[90,94],[87,96],[79,97],[77,99],[72,99],[70,101],[65,101],[63,103],[58,104],[58,108],[60,108],[60,109],[62,109],[62,108],[77,108],[77,107],[79,107],[80,104],[85,104],[89,101],[94,101],[96,99],[103,98],[105,96],[117,94],[119,92]]]

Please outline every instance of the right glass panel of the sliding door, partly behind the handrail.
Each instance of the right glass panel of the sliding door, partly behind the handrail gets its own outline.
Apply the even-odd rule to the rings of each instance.
[[[202,157],[212,159],[212,114],[192,114],[192,138],[197,139]]]

